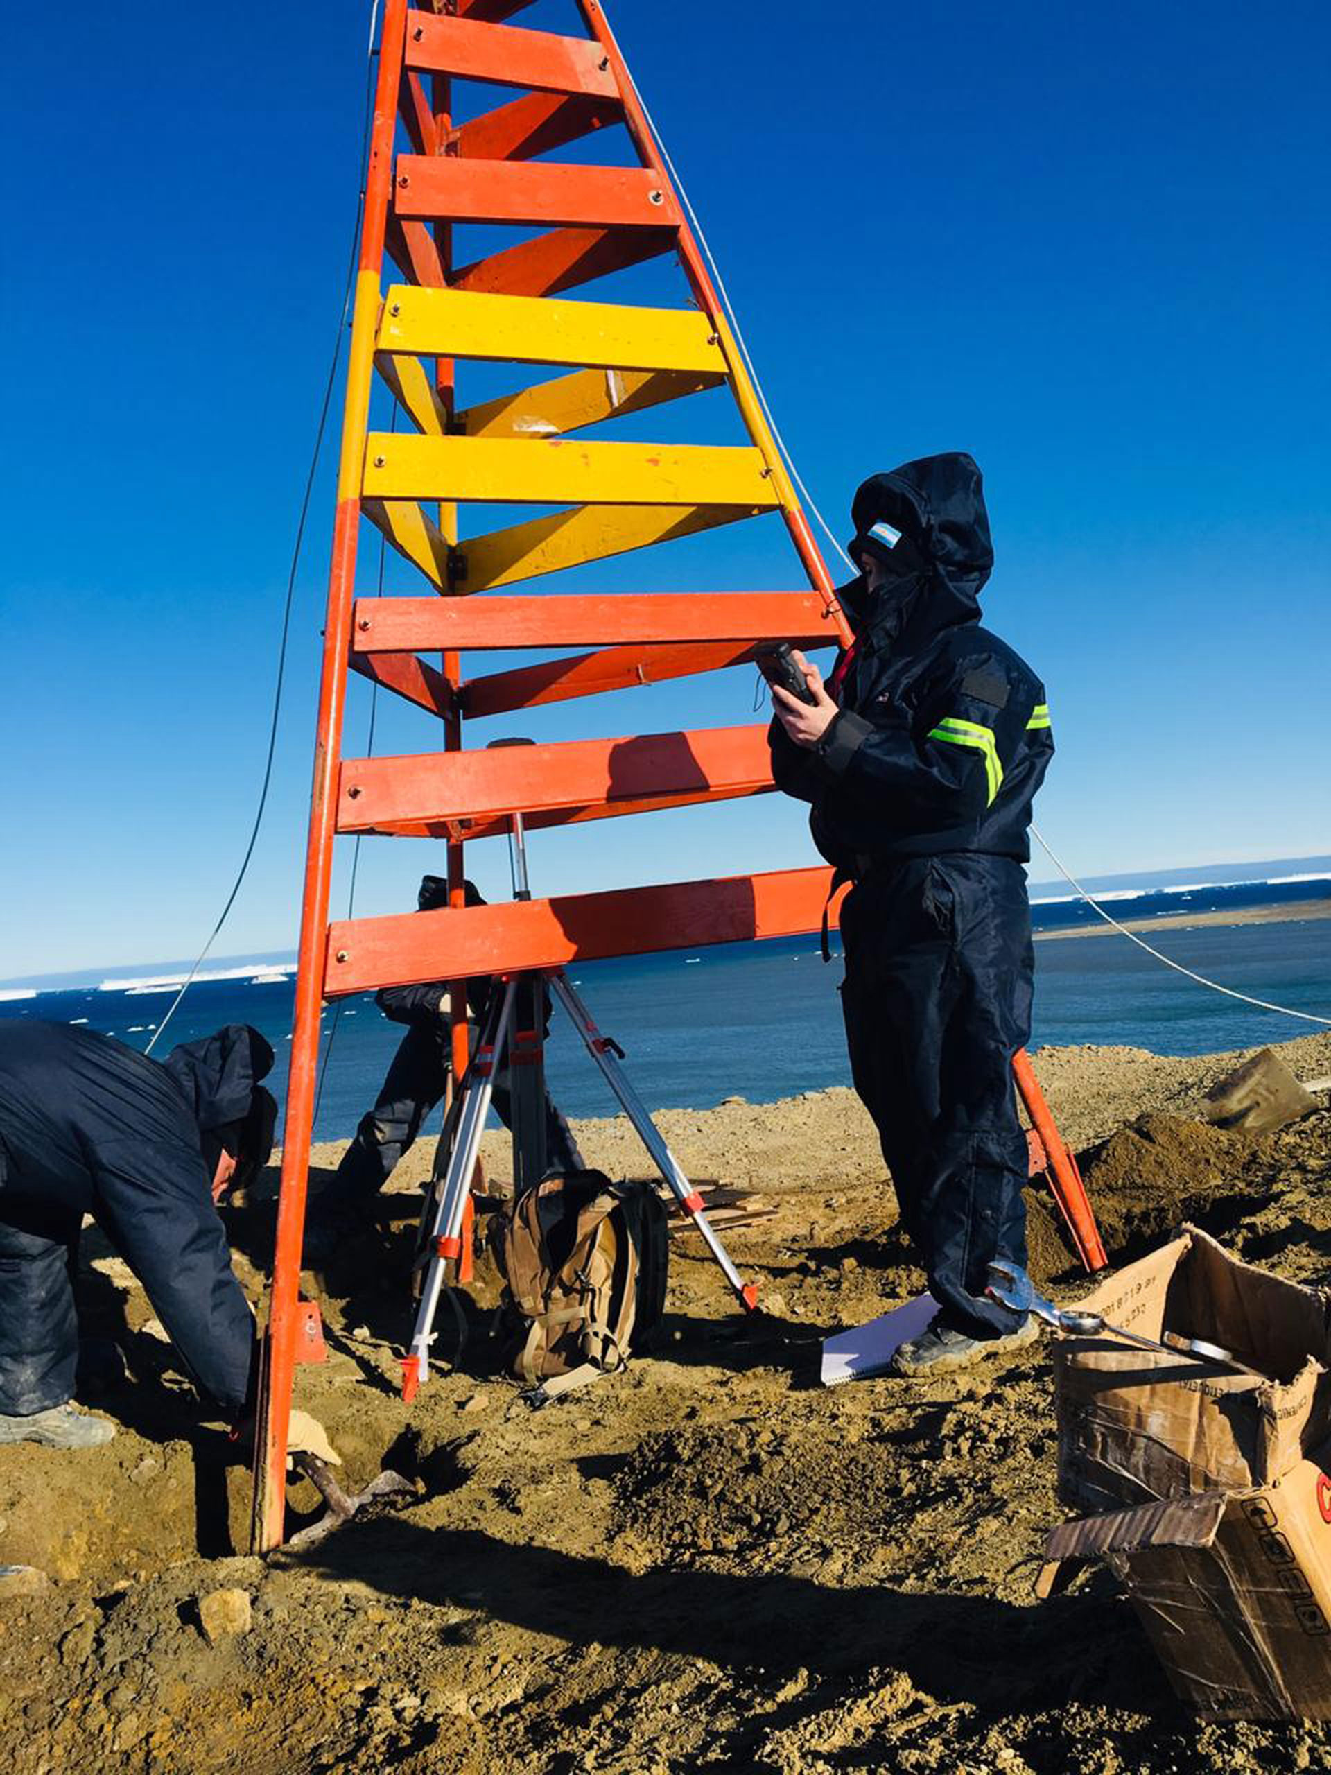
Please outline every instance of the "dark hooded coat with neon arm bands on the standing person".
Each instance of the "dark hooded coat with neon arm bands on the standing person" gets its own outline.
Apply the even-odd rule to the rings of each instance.
[[[1044,685],[980,625],[994,566],[980,469],[953,453],[877,474],[852,522],[852,556],[875,552],[889,577],[838,591],[855,634],[831,680],[841,714],[811,753],[772,722],[777,788],[813,802],[813,840],[847,873],[960,850],[1026,863],[1054,742]]]

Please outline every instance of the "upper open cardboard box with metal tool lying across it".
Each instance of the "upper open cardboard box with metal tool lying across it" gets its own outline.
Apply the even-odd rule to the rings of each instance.
[[[1054,1345],[1058,1491],[1083,1514],[1276,1484],[1331,1436],[1331,1301],[1230,1257],[1194,1227],[1079,1308],[1203,1338],[1258,1374],[1132,1349]]]

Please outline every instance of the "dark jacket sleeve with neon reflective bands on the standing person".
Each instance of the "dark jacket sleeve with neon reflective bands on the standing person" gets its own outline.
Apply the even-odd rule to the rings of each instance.
[[[1001,660],[953,662],[914,715],[889,705],[871,715],[841,710],[813,756],[823,783],[891,797],[907,820],[958,825],[981,816],[999,793],[1035,694]]]

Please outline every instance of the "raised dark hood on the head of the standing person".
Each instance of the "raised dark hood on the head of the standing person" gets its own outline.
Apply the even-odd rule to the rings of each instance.
[[[994,545],[973,456],[948,451],[871,476],[852,501],[850,522],[852,559],[870,550],[889,573],[873,596],[862,573],[838,593],[857,623],[918,646],[942,628],[980,621]],[[902,543],[893,547],[898,532]]]

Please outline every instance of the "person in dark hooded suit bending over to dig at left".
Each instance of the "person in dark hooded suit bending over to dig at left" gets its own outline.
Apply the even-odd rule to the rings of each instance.
[[[268,1159],[273,1051],[248,1024],[158,1063],[94,1030],[0,1022],[0,1443],[82,1448],[71,1285],[91,1214],[142,1282],[186,1372],[229,1418],[254,1379],[254,1314],[215,1211]]]

